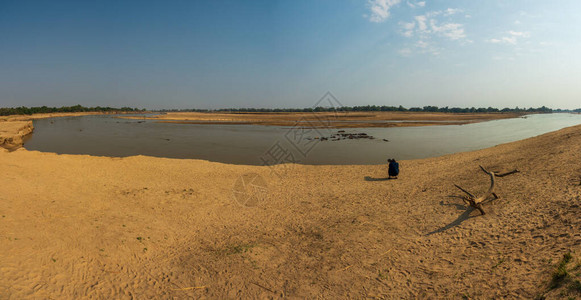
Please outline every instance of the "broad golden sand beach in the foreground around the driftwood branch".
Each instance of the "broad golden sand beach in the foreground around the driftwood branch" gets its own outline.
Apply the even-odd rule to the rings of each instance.
[[[581,126],[400,161],[397,180],[385,165],[4,151],[0,298],[580,297],[548,288],[564,253],[580,261],[580,161]],[[521,171],[484,216],[453,186],[483,193],[478,165]],[[241,178],[263,181],[244,198]]]

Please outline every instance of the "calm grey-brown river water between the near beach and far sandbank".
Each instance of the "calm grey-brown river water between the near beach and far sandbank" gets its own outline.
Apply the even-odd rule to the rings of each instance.
[[[381,164],[492,147],[581,124],[579,114],[543,114],[468,125],[349,128],[375,139],[320,141],[340,129],[260,125],[194,125],[83,116],[34,121],[28,150],[124,157],[148,155],[262,165]],[[384,141],[384,139],[388,141]]]

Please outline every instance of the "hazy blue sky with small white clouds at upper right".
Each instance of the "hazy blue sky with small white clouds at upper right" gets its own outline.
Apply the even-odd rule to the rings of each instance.
[[[5,1],[0,107],[581,107],[581,1]]]

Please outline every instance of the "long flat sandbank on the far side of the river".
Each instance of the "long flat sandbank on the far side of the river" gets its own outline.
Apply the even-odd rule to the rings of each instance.
[[[180,124],[230,124],[294,126],[304,123],[310,127],[361,128],[408,127],[429,125],[460,125],[482,121],[516,118],[519,113],[424,113],[424,112],[318,112],[318,113],[200,113],[171,112],[147,117],[162,123]],[[411,121],[411,122],[410,122]]]

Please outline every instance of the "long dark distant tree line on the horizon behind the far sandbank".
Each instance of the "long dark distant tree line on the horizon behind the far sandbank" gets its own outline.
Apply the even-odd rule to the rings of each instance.
[[[315,108],[221,108],[221,109],[173,109],[173,110],[160,110],[160,112],[171,112],[171,111],[192,111],[192,112],[234,112],[234,113],[255,113],[255,112],[329,112],[329,111],[347,111],[347,112],[367,112],[367,111],[410,111],[410,112],[444,112],[444,113],[552,113],[552,112],[573,112],[572,110],[557,109],[553,110],[546,106],[541,106],[537,108],[503,108],[498,109],[494,107],[470,107],[470,108],[460,108],[460,107],[437,107],[437,106],[424,106],[424,107],[411,107],[405,108],[403,106],[378,106],[378,105],[365,105],[365,106],[342,106],[342,107],[315,107]],[[581,111],[580,109],[574,110],[575,112]]]

